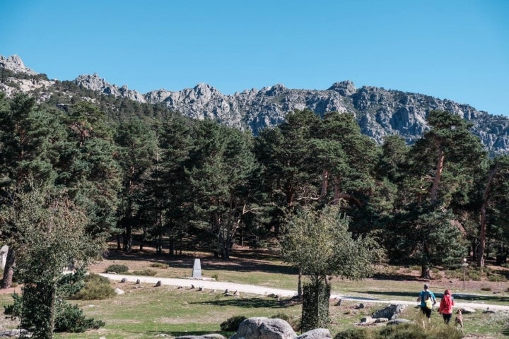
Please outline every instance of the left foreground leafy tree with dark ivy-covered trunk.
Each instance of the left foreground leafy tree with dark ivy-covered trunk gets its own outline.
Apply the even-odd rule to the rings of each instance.
[[[21,327],[35,338],[53,338],[57,283],[69,263],[86,266],[98,244],[86,234],[83,209],[64,191],[33,187],[16,191],[0,211],[4,230],[16,240],[16,276],[23,283]]]

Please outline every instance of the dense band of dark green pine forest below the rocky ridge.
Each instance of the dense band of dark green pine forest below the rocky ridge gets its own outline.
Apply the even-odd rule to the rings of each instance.
[[[136,234],[139,249],[173,256],[185,239],[228,258],[235,243],[279,237],[288,213],[338,205],[355,237],[376,232],[390,261],[424,276],[468,255],[507,261],[509,157],[489,158],[455,114],[429,112],[414,145],[376,145],[353,114],[297,110],[253,136],[111,97],[60,99],[0,96],[1,210],[35,187],[64,192],[97,242],[130,251]],[[2,242],[21,248],[21,221],[0,222]]]

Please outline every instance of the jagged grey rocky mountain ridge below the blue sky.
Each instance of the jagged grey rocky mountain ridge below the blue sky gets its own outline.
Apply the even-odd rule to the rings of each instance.
[[[14,73],[37,74],[26,68],[17,56],[0,57],[2,67]],[[10,78],[9,81],[12,85],[21,80],[26,82],[25,79],[16,78]],[[18,88],[16,85],[10,87],[8,82],[3,81],[0,90],[12,95],[16,90],[30,92],[42,86],[51,92],[51,81],[41,84],[33,80],[32,83],[18,85]],[[334,83],[326,90],[297,90],[278,84],[233,95],[223,95],[205,83],[177,92],[161,89],[142,95],[127,89],[125,85],[119,88],[107,83],[97,74],[78,76],[74,83],[105,95],[126,97],[144,103],[163,103],[188,117],[214,119],[253,133],[267,126],[281,124],[285,115],[294,109],[311,109],[320,116],[331,111],[351,112],[355,114],[361,131],[378,143],[382,143],[385,136],[394,134],[402,136],[408,143],[414,142],[428,129],[426,114],[431,109],[442,109],[472,121],[472,131],[481,138],[492,155],[509,153],[508,117],[492,116],[469,105],[419,93],[370,86],[356,88],[351,81]]]

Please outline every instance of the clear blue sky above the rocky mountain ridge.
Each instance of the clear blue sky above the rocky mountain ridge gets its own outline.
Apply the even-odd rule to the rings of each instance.
[[[0,0],[0,54],[141,93],[350,80],[509,116],[508,18],[505,0]]]

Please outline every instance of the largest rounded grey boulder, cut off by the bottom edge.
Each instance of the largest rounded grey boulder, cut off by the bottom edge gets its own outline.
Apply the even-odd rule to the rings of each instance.
[[[297,334],[283,319],[255,317],[240,323],[230,339],[295,339]]]

